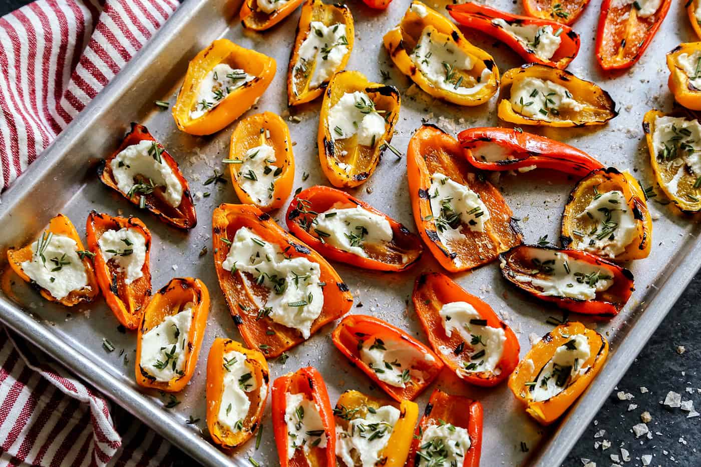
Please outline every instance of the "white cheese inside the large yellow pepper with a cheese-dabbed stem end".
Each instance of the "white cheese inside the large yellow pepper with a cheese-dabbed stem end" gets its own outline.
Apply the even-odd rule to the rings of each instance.
[[[409,58],[435,88],[455,94],[472,95],[489,83],[491,71],[485,68],[475,86],[462,86],[460,73],[475,67],[475,60],[452,43],[448,36],[444,36],[444,41],[437,43],[433,41],[432,35],[435,37],[442,34],[432,26],[424,28]]]

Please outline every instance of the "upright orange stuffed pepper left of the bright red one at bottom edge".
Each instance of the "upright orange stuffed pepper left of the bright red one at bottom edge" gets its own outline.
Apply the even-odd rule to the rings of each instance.
[[[260,429],[269,379],[262,353],[215,339],[207,358],[207,428],[217,445],[233,449]]]

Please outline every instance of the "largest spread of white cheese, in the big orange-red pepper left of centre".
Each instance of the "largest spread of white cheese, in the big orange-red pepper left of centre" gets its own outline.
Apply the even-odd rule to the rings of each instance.
[[[275,323],[299,330],[308,339],[324,305],[319,264],[303,257],[288,259],[278,245],[241,227],[222,267],[250,273],[254,280],[262,276],[262,285],[270,289],[268,299],[260,306],[264,314]]]

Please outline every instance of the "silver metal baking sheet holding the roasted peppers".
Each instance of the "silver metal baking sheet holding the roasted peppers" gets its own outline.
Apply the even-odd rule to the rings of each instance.
[[[269,407],[259,450],[254,449],[251,441],[233,454],[224,454],[210,444],[205,426],[205,360],[210,344],[217,336],[240,339],[217,284],[210,238],[213,208],[223,202],[236,203],[237,199],[231,182],[203,185],[213,170],[224,170],[220,161],[228,153],[229,137],[235,123],[217,135],[193,137],[175,128],[170,111],[160,110],[153,104],[156,99],[175,101],[187,62],[217,37],[226,37],[271,55],[277,60],[277,74],[271,87],[248,114],[274,111],[287,117],[292,112],[299,117],[299,123],[289,121],[292,140],[296,143],[294,187],[327,182],[320,171],[316,149],[320,100],[292,110],[288,110],[286,104],[287,60],[299,11],[271,31],[258,34],[242,29],[238,21],[239,4],[240,0],[184,2],[156,37],[46,150],[41,161],[32,165],[4,194],[0,204],[0,245],[3,248],[28,242],[57,212],[68,215],[81,234],[84,234],[86,216],[92,209],[112,215],[131,214],[143,219],[154,235],[151,273],[155,289],[175,276],[195,276],[204,280],[212,295],[212,309],[195,375],[189,386],[177,395],[181,403],[168,410],[164,407],[167,399],[156,391],[144,391],[135,384],[135,334],[118,331],[118,323],[102,300],[77,309],[66,309],[41,299],[20,281],[13,287],[18,303],[0,295],[0,319],[126,407],[196,461],[207,466],[247,466],[247,459],[252,456],[265,466],[274,466],[277,456]],[[508,11],[520,11],[520,6],[511,1],[499,0],[490,4]],[[444,12],[444,4],[429,5]],[[603,127],[544,128],[535,133],[573,144],[606,164],[627,168],[645,186],[651,185],[653,179],[641,119],[651,107],[669,109],[672,106],[673,98],[666,86],[665,53],[681,41],[694,40],[682,5],[674,2],[654,43],[639,64],[629,72],[617,75],[602,74],[595,65],[592,49],[599,4],[588,6],[575,25],[582,36],[582,49],[569,69],[608,90],[618,102],[620,115]],[[390,82],[402,91],[400,121],[392,144],[404,152],[409,137],[421,125],[422,119],[436,123],[452,134],[472,126],[499,126],[496,97],[476,108],[446,104],[411,86],[406,77],[391,67],[381,46],[381,37],[399,22],[408,6],[408,0],[395,0],[387,11],[376,12],[360,1],[351,5],[356,42],[348,69],[358,69],[374,81],[380,81],[381,71],[388,71]],[[493,39],[467,29],[465,34],[494,55],[501,72],[520,65],[517,55]],[[199,221],[196,229],[184,233],[165,226],[148,213],[139,212],[95,177],[93,165],[118,146],[131,121],[147,125],[179,162],[196,194]],[[304,172],[309,177],[303,182]],[[503,173],[494,181],[503,191],[515,217],[522,219],[520,224],[526,242],[536,242],[545,234],[550,239],[558,237],[564,201],[576,180],[559,173],[535,170],[517,176]],[[406,186],[404,159],[395,158],[388,152],[368,182],[352,189],[351,193],[415,231]],[[211,192],[211,196],[203,197],[205,192]],[[611,356],[599,377],[559,424],[543,428],[531,421],[505,384],[493,389],[473,388],[457,381],[449,372],[442,374],[437,383],[439,386],[476,398],[484,404],[482,466],[559,465],[701,265],[701,243],[697,241],[699,226],[675,215],[669,206],[658,201],[664,201],[661,194],[650,203],[656,219],[652,254],[628,265],[636,277],[636,291],[629,304],[620,315],[608,321],[594,322],[578,317],[606,334],[611,341]],[[282,212],[273,215],[278,222],[282,220]],[[200,257],[200,250],[205,246],[210,252]],[[334,266],[355,296],[356,307],[351,313],[379,316],[426,341],[409,305],[409,297],[418,273],[440,270],[430,253],[426,252],[421,262],[406,273],[373,273],[342,264]],[[536,302],[506,284],[496,264],[454,278],[465,289],[482,297],[512,326],[519,337],[522,356],[530,348],[529,334],[543,335],[550,330],[545,319],[562,316],[557,309]],[[351,367],[335,350],[329,339],[332,328],[333,325],[324,327],[308,342],[294,348],[285,365],[272,361],[273,377],[301,366],[314,365],[327,381],[332,402],[342,391],[351,388],[381,395],[372,388],[365,374]],[[114,352],[104,350],[103,338],[114,344]],[[128,365],[123,363],[124,356],[129,360]],[[421,407],[428,392],[417,400]],[[200,421],[185,424],[189,417]],[[529,452],[522,452],[521,442],[526,443]]]

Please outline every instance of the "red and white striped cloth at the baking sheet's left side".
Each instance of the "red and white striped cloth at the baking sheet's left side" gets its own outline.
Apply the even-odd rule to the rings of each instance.
[[[177,0],[38,0],[0,18],[4,190],[175,11]],[[168,442],[0,326],[0,465],[172,464]],[[121,434],[120,434],[121,433]]]

